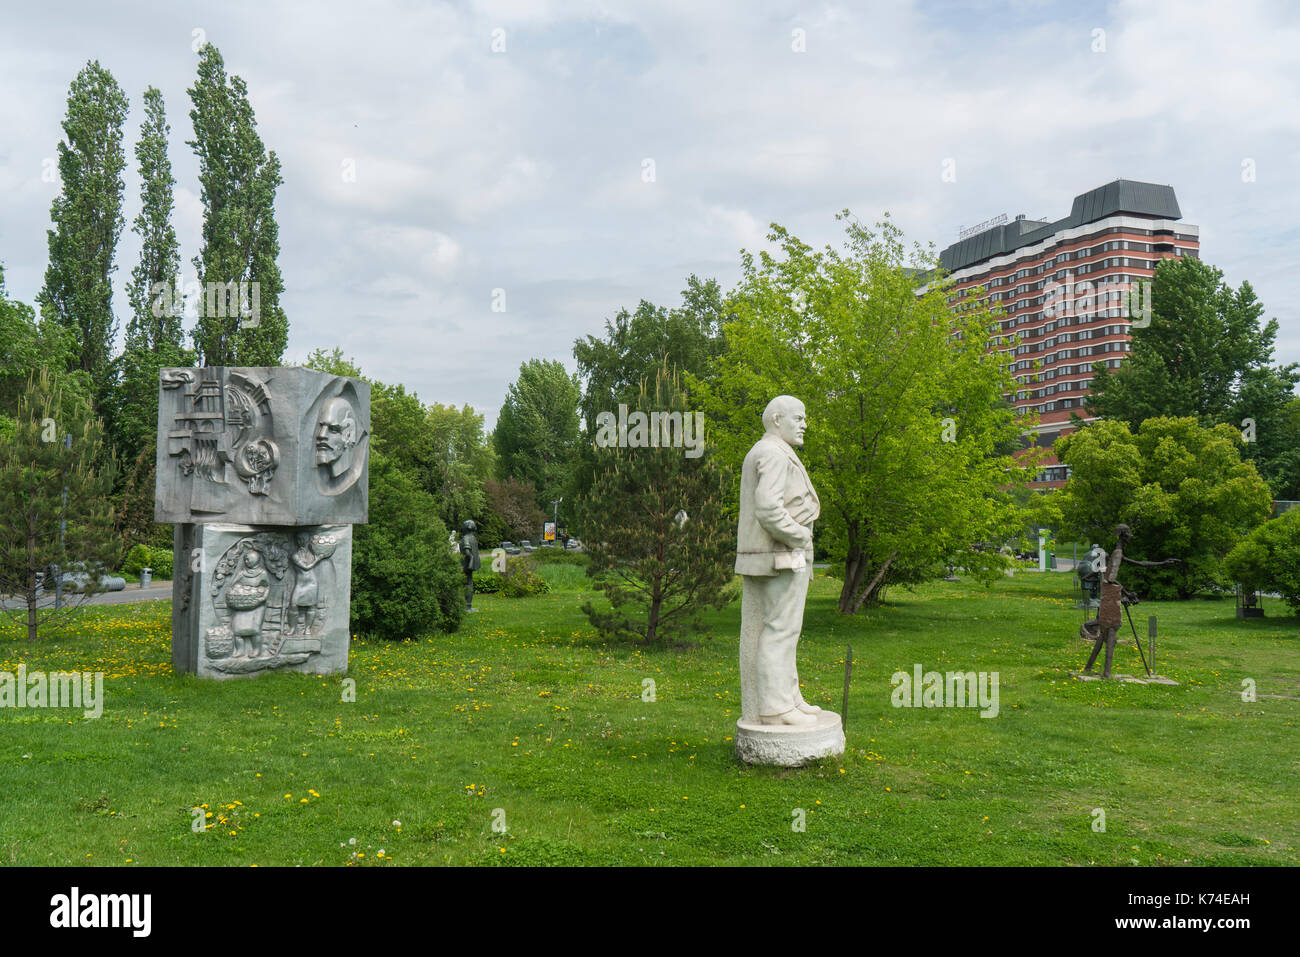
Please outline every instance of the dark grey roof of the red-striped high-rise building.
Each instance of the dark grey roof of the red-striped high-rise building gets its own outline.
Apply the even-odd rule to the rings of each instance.
[[[963,269],[992,256],[1005,256],[1022,246],[1032,246],[1063,229],[1096,222],[1115,213],[1152,216],[1160,220],[1183,218],[1173,186],[1115,179],[1075,196],[1074,207],[1063,220],[1043,222],[1018,218],[1002,226],[985,229],[945,248],[939,254],[939,264],[946,272]]]

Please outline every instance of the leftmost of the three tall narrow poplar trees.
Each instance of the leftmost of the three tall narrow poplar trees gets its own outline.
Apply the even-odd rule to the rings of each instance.
[[[75,368],[104,407],[112,387],[113,256],[122,234],[122,124],[127,101],[113,74],[92,60],[73,79],[58,143],[62,190],[49,207],[49,264],[42,312],[75,335]]]

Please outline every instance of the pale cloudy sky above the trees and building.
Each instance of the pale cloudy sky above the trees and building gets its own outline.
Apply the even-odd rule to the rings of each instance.
[[[1174,186],[1202,257],[1256,287],[1279,358],[1300,361],[1286,0],[23,4],[0,23],[10,296],[40,289],[43,170],[91,59],[131,98],[129,150],[144,88],[166,98],[192,274],[203,40],[247,81],[283,164],[285,360],[341,346],[489,425],[521,361],[572,369],[575,338],[642,298],[675,304],[690,273],[729,287],[770,222],[822,246],[840,242],[836,211],[888,211],[942,247],[1002,212],[1061,218],[1118,177]],[[126,191],[129,225],[134,159]],[[124,324],[138,252],[124,233]]]

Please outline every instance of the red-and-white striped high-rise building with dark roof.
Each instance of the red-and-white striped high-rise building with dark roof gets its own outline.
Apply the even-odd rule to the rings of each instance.
[[[1200,229],[1180,220],[1173,187],[1115,179],[1075,196],[1063,220],[1002,216],[940,254],[957,296],[983,286],[1002,308],[994,342],[1017,381],[1008,398],[1037,412],[1039,445],[1070,432],[1071,413],[1091,421],[1092,365],[1118,368],[1131,324],[1149,321],[1156,264],[1200,255]],[[1053,456],[1036,484],[1061,485],[1065,471]]]

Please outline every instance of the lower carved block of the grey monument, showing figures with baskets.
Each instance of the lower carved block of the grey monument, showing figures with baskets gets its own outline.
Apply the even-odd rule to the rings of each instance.
[[[351,525],[178,524],[174,536],[177,671],[347,671]]]

